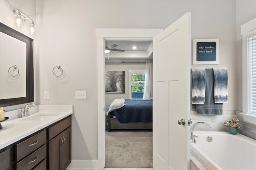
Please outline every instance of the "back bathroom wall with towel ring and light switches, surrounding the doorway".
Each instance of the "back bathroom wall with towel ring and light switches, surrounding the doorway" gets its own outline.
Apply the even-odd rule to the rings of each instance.
[[[229,102],[236,110],[236,2],[222,1],[36,1],[40,104],[74,105],[72,159],[97,159],[96,28],[166,28],[192,12],[192,39],[219,38],[220,65],[229,71]],[[64,79],[52,68],[61,65]],[[209,66],[213,67],[213,66]],[[76,100],[76,90],[87,99]],[[43,91],[50,99],[43,100]]]

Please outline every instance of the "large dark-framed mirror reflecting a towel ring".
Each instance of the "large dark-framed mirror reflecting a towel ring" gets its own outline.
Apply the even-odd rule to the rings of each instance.
[[[34,101],[33,41],[0,23],[0,107]]]

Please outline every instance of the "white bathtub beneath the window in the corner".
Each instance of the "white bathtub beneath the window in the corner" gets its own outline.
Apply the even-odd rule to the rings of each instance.
[[[256,170],[256,140],[229,132],[196,132],[191,153],[209,170]],[[212,142],[206,138],[212,137]]]

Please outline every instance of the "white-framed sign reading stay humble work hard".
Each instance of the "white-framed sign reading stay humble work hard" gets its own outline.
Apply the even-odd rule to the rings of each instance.
[[[193,65],[219,64],[219,39],[193,39]]]

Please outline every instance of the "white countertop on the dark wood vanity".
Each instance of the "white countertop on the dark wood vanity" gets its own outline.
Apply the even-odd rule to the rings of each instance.
[[[36,106],[35,108],[31,108],[31,111],[32,110],[34,110],[35,113],[31,112],[30,116],[28,117],[33,117],[39,114],[58,115],[51,119],[45,119],[41,121],[26,121],[26,118],[28,117],[14,118],[13,115],[18,114],[14,113],[14,111],[11,111],[10,113],[6,112],[5,117],[10,117],[10,119],[1,122],[3,128],[0,130],[0,149],[73,114],[72,105],[40,105]]]

